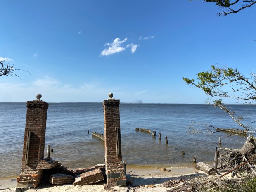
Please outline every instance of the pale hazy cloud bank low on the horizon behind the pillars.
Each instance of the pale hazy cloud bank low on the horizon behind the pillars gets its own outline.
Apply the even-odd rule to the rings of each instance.
[[[101,81],[74,85],[51,77],[31,79],[28,82],[1,81],[0,90],[5,90],[0,94],[0,101],[7,102],[33,100],[37,93],[42,94],[42,100],[47,102],[101,102],[107,99],[109,92],[114,92],[114,95],[119,93],[116,87],[106,85]]]

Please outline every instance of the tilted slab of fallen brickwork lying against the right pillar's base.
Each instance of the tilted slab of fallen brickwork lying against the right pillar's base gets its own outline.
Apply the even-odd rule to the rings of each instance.
[[[102,171],[98,168],[86,173],[82,173],[75,178],[74,185],[89,185],[92,183],[97,183],[103,181],[104,177]]]

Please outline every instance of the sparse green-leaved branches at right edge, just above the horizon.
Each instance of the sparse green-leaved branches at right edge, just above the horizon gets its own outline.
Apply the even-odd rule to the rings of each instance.
[[[211,66],[209,71],[197,73],[197,80],[184,78],[190,85],[201,88],[212,97],[233,97],[238,100],[256,100],[256,75],[245,77],[237,69]]]

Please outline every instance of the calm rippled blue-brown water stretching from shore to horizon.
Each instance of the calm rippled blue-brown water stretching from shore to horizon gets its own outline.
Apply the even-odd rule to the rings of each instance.
[[[255,121],[256,107],[229,107],[240,115],[247,115],[245,122]],[[212,164],[219,136],[222,147],[240,148],[244,142],[242,136],[225,137],[227,135],[220,132],[187,133],[192,121],[238,128],[228,114],[211,105],[121,103],[120,119],[122,155],[128,166],[194,167],[194,156],[197,161]],[[26,103],[0,103],[0,178],[19,175],[21,171],[25,120]],[[156,138],[136,132],[135,127],[156,131]],[[49,104],[45,146],[51,144],[54,148],[52,159],[72,169],[104,163],[104,142],[92,138],[91,132],[104,133],[102,103]],[[162,140],[158,139],[159,133]],[[185,151],[185,156],[181,151]]]

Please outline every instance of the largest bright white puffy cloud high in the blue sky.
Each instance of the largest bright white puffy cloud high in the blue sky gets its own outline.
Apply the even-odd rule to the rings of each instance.
[[[104,49],[100,56],[108,56],[111,54],[119,53],[124,51],[126,48],[122,47],[122,43],[126,42],[128,38],[125,38],[124,40],[120,40],[119,38],[116,38],[113,43],[105,43],[105,46],[109,46],[109,48]]]

